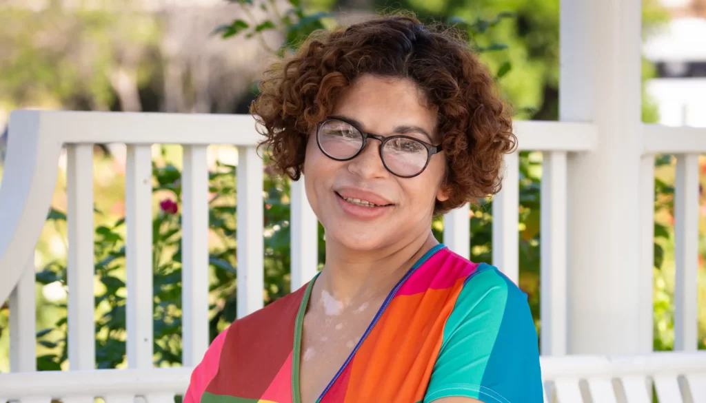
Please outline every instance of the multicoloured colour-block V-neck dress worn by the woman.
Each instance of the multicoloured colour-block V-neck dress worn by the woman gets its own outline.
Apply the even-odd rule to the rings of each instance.
[[[314,280],[221,332],[184,403],[301,403],[301,327]],[[496,267],[438,245],[390,291],[317,402],[452,396],[541,403],[542,380],[527,296]]]

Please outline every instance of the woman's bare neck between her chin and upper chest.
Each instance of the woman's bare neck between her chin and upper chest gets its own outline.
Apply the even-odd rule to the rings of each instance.
[[[438,241],[431,230],[411,241],[375,251],[356,251],[332,240],[326,242],[326,263],[316,280],[317,294],[325,291],[347,305],[350,301],[384,298]]]

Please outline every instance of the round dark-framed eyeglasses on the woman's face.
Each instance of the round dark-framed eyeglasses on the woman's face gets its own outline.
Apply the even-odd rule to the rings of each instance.
[[[390,173],[412,178],[424,172],[431,156],[441,152],[441,145],[431,145],[409,136],[383,137],[361,131],[341,117],[328,117],[316,128],[319,150],[336,161],[349,161],[365,148],[368,139],[380,141],[380,157]]]

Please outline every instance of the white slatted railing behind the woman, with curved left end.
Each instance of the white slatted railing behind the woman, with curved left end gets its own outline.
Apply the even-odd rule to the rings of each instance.
[[[592,150],[592,124],[517,121],[520,150],[544,153],[542,179],[542,352],[567,351],[567,157]],[[669,138],[669,141],[664,140]],[[698,228],[698,154],[706,152],[706,131],[695,128],[645,126],[642,164],[644,261],[652,267],[652,193],[654,154],[678,155],[676,194],[678,349],[693,350],[696,342],[696,242]],[[239,149],[237,183],[238,316],[262,306],[263,177],[256,154],[258,134],[246,115],[134,114],[106,112],[13,112],[8,158],[0,187],[0,299],[10,296],[11,366],[35,368],[34,245],[44,224],[56,178],[61,146],[68,149],[68,337],[72,370],[95,368],[93,308],[92,144],[126,143],[126,268],[128,287],[127,351],[130,368],[152,367],[151,168],[152,143],[184,146],[183,186],[183,320],[184,365],[201,359],[208,344],[208,174],[206,147],[231,144]],[[511,279],[518,278],[517,153],[506,157],[503,191],[493,203],[493,263]],[[292,184],[292,288],[316,272],[316,217],[306,202],[303,184]],[[444,242],[469,256],[468,206],[445,216]],[[78,284],[74,286],[73,284]],[[652,293],[652,277],[638,287]],[[74,291],[78,290],[78,291]],[[645,306],[645,311],[652,310]],[[650,322],[651,323],[651,322]],[[650,328],[651,332],[651,328]],[[82,348],[78,348],[81,346]]]

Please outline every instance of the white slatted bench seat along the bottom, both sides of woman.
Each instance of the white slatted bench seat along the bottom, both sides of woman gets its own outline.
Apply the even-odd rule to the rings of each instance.
[[[92,403],[94,397],[105,403],[133,403],[135,397],[173,403],[186,392],[190,375],[191,368],[3,374],[0,403]],[[547,403],[652,403],[652,385],[659,403],[706,402],[706,351],[544,356],[542,376]]]

